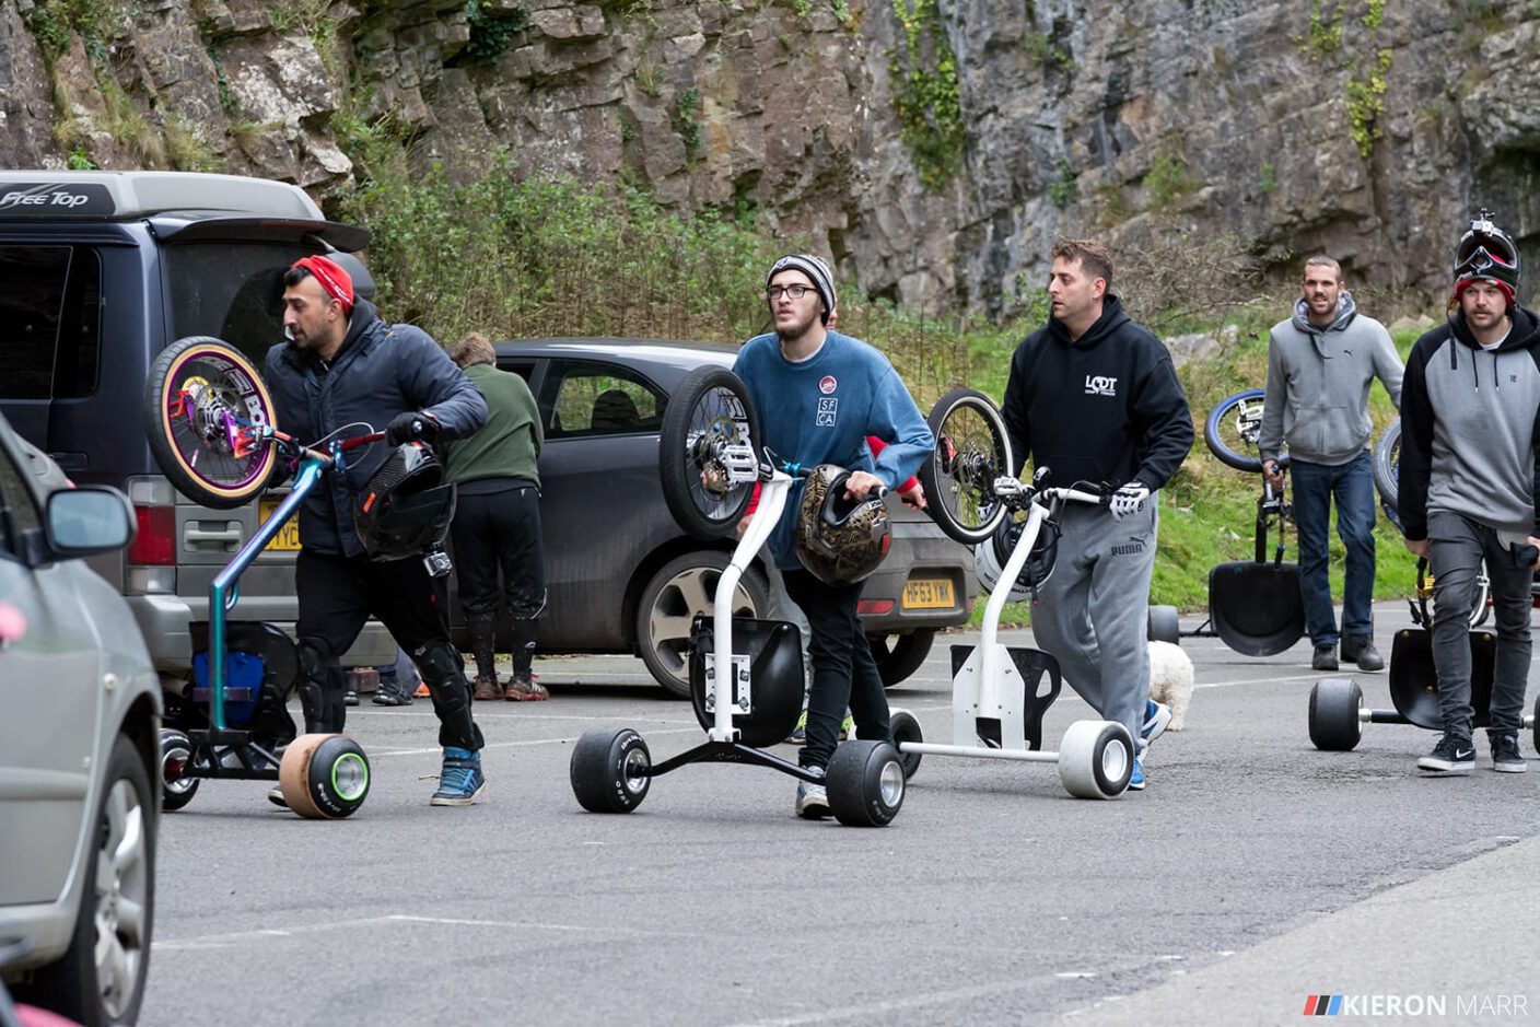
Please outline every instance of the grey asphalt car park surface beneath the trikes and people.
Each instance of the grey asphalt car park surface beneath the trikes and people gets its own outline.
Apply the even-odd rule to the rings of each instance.
[[[1378,619],[1389,653],[1404,608]],[[972,641],[889,693],[927,741],[950,741],[944,644]],[[1053,767],[927,756],[887,828],[799,821],[793,779],[736,765],[582,811],[584,728],[631,725],[654,762],[702,739],[639,661],[542,659],[550,702],[477,704],[471,808],[428,805],[425,699],[365,704],[353,819],[234,781],[163,818],[142,1022],[1289,1024],[1331,995],[1377,1022],[1540,1019],[1532,734],[1526,774],[1492,773],[1478,738],[1474,774],[1429,781],[1417,728],[1312,748],[1307,642],[1183,647],[1198,688],[1146,791],[1076,801]],[[1389,708],[1384,673],[1352,676]],[[1066,688],[1049,747],[1086,716]]]

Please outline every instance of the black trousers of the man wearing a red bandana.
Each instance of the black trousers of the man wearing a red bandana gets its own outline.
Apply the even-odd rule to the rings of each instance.
[[[320,661],[330,671],[357,641],[370,616],[379,617],[396,644],[422,671],[439,716],[439,745],[476,751],[480,728],[471,719],[470,685],[459,653],[450,642],[445,619],[448,590],[442,577],[430,577],[419,559],[377,564],[365,556],[346,557],[300,550],[294,564],[299,591],[299,622],[294,634],[306,664]],[[340,674],[326,674],[340,681]],[[323,685],[326,688],[328,685]]]

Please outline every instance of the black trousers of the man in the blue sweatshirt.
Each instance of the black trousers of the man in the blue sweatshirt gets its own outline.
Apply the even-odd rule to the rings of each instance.
[[[892,742],[887,693],[872,659],[865,627],[856,613],[862,584],[835,588],[805,570],[781,571],[792,602],[802,608],[813,637],[813,690],[807,697],[807,745],[798,756],[804,767],[827,767],[839,744],[845,707],[862,739]]]

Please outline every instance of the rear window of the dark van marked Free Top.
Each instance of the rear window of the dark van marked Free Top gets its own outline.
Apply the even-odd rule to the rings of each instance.
[[[245,240],[166,246],[171,337],[223,339],[260,368],[268,350],[283,342],[283,273],[311,253]]]

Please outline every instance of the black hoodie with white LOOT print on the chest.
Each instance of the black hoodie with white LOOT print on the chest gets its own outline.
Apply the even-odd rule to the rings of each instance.
[[[1055,487],[1137,479],[1157,490],[1192,450],[1192,411],[1170,353],[1116,296],[1080,339],[1049,316],[1016,346],[1001,413],[1018,468],[1030,456]]]

